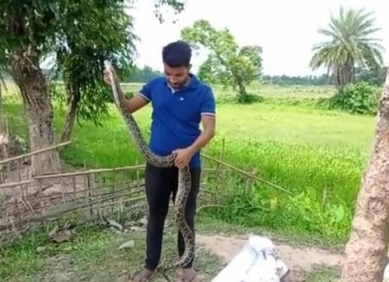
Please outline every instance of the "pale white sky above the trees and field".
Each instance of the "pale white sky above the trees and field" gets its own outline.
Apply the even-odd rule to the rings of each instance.
[[[167,8],[166,22],[161,24],[152,10],[153,0],[137,0],[130,14],[134,17],[137,42],[137,65],[163,70],[163,46],[180,39],[182,28],[205,19],[217,29],[227,27],[239,46],[260,45],[263,48],[263,73],[266,75],[320,75],[325,70],[311,71],[312,47],[326,40],[318,28],[326,28],[331,12],[344,8],[365,8],[373,12],[374,37],[386,48],[385,64],[389,64],[389,16],[382,0],[187,0],[187,8],[178,16]],[[172,23],[178,19],[177,23]],[[206,55],[193,54],[193,71],[197,71]]]

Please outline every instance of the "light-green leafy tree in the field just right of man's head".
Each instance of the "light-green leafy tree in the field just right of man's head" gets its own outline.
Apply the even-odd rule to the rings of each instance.
[[[224,86],[239,88],[239,100],[247,100],[246,85],[260,80],[262,48],[241,47],[228,29],[215,30],[209,21],[196,21],[192,27],[185,27],[181,37],[193,49],[206,49],[208,59],[199,70],[200,79],[208,83],[220,82]]]

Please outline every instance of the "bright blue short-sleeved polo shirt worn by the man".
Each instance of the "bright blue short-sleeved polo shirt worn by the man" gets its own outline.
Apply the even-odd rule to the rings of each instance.
[[[215,115],[215,99],[210,86],[200,82],[195,75],[187,86],[179,90],[169,87],[164,77],[150,80],[139,95],[152,103],[150,150],[167,156],[172,151],[190,146],[201,134],[202,115]],[[197,152],[189,167],[200,167]]]

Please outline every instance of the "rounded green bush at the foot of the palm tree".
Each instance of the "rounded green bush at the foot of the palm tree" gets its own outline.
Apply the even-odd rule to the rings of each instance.
[[[342,86],[329,99],[329,108],[346,110],[352,114],[375,115],[378,109],[380,89],[367,82]]]

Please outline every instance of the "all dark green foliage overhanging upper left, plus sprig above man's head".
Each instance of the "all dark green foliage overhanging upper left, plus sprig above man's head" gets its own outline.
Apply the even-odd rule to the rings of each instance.
[[[0,67],[7,66],[12,54],[25,54],[30,60],[56,57],[56,71],[64,79],[66,95],[76,95],[78,118],[92,119],[108,113],[109,91],[102,82],[102,65],[111,60],[121,75],[128,75],[135,55],[130,5],[126,0],[5,0],[0,3]],[[161,8],[176,14],[185,5],[178,0],[154,0],[154,12]],[[152,11],[150,11],[152,12]],[[38,64],[38,63],[36,63]],[[5,68],[6,69],[6,68]]]

